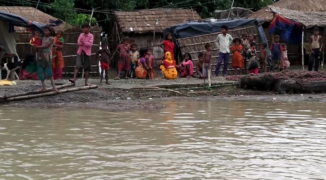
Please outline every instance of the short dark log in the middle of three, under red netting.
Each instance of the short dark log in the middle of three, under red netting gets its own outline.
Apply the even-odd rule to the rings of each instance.
[[[300,85],[293,79],[278,79],[275,83],[274,92],[277,94],[296,93],[300,89]]]

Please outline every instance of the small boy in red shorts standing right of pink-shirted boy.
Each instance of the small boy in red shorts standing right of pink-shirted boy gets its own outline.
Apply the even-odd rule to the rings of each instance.
[[[96,57],[97,59],[101,62],[101,77],[100,77],[100,83],[102,83],[103,80],[103,73],[105,71],[105,83],[106,84],[110,84],[109,83],[109,62],[110,62],[110,56],[111,53],[110,51],[107,49],[108,45],[106,43],[106,41],[102,41],[101,42],[101,47],[102,49],[100,49],[97,53],[96,53]],[[101,55],[101,56],[100,56]]]

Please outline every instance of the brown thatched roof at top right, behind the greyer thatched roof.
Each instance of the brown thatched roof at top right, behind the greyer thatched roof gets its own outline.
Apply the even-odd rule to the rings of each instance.
[[[326,0],[280,0],[273,3],[271,6],[298,11],[326,11]],[[260,18],[267,22],[273,20],[273,13],[269,11],[269,7],[264,7],[249,15],[248,18]]]

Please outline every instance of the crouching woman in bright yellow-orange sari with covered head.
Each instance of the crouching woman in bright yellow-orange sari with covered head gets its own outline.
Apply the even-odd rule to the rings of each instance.
[[[178,72],[175,64],[173,63],[172,55],[170,52],[165,53],[165,60],[163,60],[159,65],[160,69],[167,79],[176,79],[178,77]]]

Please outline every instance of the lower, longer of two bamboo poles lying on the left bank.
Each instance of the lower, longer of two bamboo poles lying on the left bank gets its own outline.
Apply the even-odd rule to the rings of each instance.
[[[63,90],[60,90],[59,92],[51,91],[51,92],[42,93],[42,94],[34,94],[34,95],[7,98],[7,99],[0,100],[0,102],[40,98],[40,97],[53,96],[53,95],[57,95],[57,94],[63,94],[63,93],[69,93],[69,92],[81,91],[81,90],[87,90],[87,89],[96,89],[96,88],[97,88],[97,85],[74,87],[74,88],[69,88],[69,89],[63,89]]]

